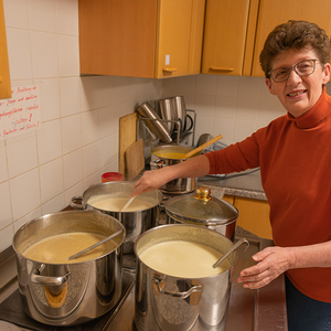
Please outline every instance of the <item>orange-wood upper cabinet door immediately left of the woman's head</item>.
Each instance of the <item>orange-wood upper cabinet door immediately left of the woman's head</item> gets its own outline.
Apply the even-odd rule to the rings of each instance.
[[[254,47],[257,11],[258,0],[206,0],[202,74],[243,74],[245,53]]]

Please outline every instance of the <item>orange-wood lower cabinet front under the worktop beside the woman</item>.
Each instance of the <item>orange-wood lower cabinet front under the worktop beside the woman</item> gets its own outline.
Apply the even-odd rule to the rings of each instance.
[[[267,201],[232,195],[224,195],[223,200],[229,202],[239,211],[236,222],[238,226],[259,237],[273,239],[269,222],[270,207]]]

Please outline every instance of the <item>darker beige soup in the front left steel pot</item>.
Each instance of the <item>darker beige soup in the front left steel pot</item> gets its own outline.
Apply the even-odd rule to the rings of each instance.
[[[72,264],[85,261],[111,252],[117,247],[117,244],[110,239],[75,259],[70,260],[68,258],[72,255],[100,242],[106,236],[104,235],[85,232],[72,232],[54,235],[33,244],[23,252],[23,255],[29,259],[50,264]]]

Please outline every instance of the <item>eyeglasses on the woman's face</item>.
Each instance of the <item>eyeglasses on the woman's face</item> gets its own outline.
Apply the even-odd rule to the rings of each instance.
[[[299,76],[309,76],[316,70],[317,58],[303,60],[298,62],[291,67],[277,67],[270,71],[268,74],[271,76],[274,82],[281,83],[288,79],[291,71],[293,70]]]

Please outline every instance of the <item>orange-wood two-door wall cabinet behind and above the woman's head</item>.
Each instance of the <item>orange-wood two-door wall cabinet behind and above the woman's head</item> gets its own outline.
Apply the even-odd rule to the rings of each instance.
[[[206,0],[202,73],[264,77],[259,54],[276,25],[306,20],[331,35],[330,15],[330,0]]]

